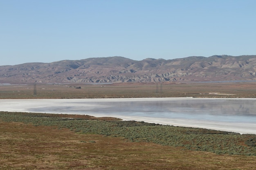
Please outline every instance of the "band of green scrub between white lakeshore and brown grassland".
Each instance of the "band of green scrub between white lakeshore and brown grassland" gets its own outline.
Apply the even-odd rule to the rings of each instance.
[[[214,152],[216,154],[256,156],[256,135],[252,134],[240,135],[234,132],[168,126],[144,121],[50,117],[46,113],[0,112],[0,119],[2,121],[33,124],[34,126],[69,128],[79,133],[124,137],[134,142],[144,141],[166,146],[181,146],[189,150]]]

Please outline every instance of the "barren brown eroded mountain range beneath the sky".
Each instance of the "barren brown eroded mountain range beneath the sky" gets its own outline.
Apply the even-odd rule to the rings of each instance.
[[[173,60],[96,57],[0,66],[0,84],[202,82],[256,80],[256,55],[213,55]]]

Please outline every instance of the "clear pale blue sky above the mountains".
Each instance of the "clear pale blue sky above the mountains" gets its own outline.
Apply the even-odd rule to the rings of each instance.
[[[256,55],[256,0],[0,0],[0,65]]]

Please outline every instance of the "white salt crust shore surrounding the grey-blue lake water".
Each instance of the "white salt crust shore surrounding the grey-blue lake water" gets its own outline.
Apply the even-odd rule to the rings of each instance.
[[[30,113],[54,113],[54,114],[70,114],[70,115],[91,115],[94,117],[116,117],[126,120],[134,120],[134,121],[145,121],[149,123],[155,124],[165,124],[172,126],[182,126],[182,127],[193,127],[193,128],[205,128],[205,129],[213,129],[213,130],[221,130],[228,132],[238,132],[240,134],[256,134],[256,124],[253,123],[240,123],[240,122],[218,122],[211,120],[198,120],[198,119],[171,119],[171,118],[163,118],[163,117],[145,117],[145,116],[135,116],[135,115],[118,115],[118,113],[83,113],[79,109],[85,108],[97,108],[99,106],[94,103],[97,102],[138,102],[138,101],[165,101],[165,100],[199,100],[202,98],[188,98],[188,97],[166,97],[166,98],[111,98],[111,99],[0,99],[0,111],[8,111],[8,112],[30,112]],[[207,99],[222,99],[223,98],[203,98]],[[229,98],[229,100],[241,100],[241,98]],[[250,98],[245,98],[243,100],[249,100]],[[256,100],[252,98],[253,100]],[[225,99],[226,100],[226,99]],[[84,104],[83,102],[89,102]],[[70,106],[68,106],[70,104]],[[80,106],[82,104],[83,106]],[[41,108],[41,111],[34,111],[38,107],[48,106],[48,107],[56,107],[56,111],[44,110]],[[83,108],[84,107],[84,108]],[[104,108],[104,106],[100,106]],[[33,110],[34,109],[34,110]],[[70,110],[68,110],[70,109]],[[76,110],[74,110],[76,109]]]

